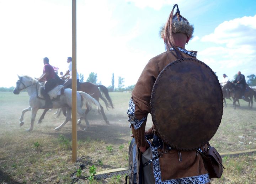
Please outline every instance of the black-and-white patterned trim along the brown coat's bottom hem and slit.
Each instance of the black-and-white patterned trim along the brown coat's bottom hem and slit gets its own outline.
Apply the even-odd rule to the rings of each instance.
[[[149,141],[148,143],[150,145],[152,157],[157,156],[158,148],[152,146]],[[153,163],[153,173],[154,173],[156,184],[206,184],[210,182],[209,174],[202,174],[198,176],[192,176],[192,177],[186,177],[186,178],[180,178],[180,179],[171,179],[171,180],[166,180],[162,182],[159,158],[155,159],[152,163]]]

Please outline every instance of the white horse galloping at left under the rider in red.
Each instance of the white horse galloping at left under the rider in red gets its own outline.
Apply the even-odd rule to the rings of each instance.
[[[24,124],[23,122],[23,116],[24,114],[31,110],[31,124],[30,128],[27,129],[27,131],[33,130],[34,121],[36,118],[36,113],[40,107],[42,107],[45,104],[44,99],[38,98],[38,91],[39,87],[41,86],[40,83],[38,83],[37,80],[33,79],[29,76],[18,76],[18,80],[16,82],[16,87],[13,90],[14,94],[19,94],[20,91],[25,90],[27,91],[28,95],[30,96],[29,104],[30,107],[23,109],[21,117],[20,117],[20,126]],[[38,84],[38,85],[37,85]],[[86,122],[86,129],[89,128],[89,121],[86,118],[86,114],[84,110],[82,110],[82,105],[85,103],[86,108],[91,108],[92,104],[95,104],[98,107],[98,110],[100,110],[100,104],[98,101],[96,101],[94,98],[92,98],[89,94],[78,91],[76,92],[76,109],[77,113],[85,119]],[[69,120],[71,120],[71,108],[72,108],[72,90],[71,89],[65,89],[64,93],[60,96],[60,99],[58,101],[53,101],[53,109],[58,109],[62,107],[67,107],[67,113],[66,113],[66,119],[65,121],[55,128],[55,130],[59,130],[62,128]]]

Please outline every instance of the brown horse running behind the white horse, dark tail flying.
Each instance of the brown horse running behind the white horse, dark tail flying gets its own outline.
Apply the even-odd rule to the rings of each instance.
[[[98,88],[100,88],[100,90],[102,91],[102,93],[104,94],[104,96],[107,99],[102,96],[102,94],[101,94],[101,92],[100,92],[100,90]],[[99,102],[99,99],[102,99],[102,101],[105,103],[107,109],[108,108],[114,108],[112,100],[111,100],[111,98],[110,98],[110,96],[108,94],[108,89],[105,86],[103,86],[103,85],[95,85],[95,84],[93,84],[91,82],[83,82],[83,83],[80,83],[78,91],[82,91],[82,92],[85,92],[87,94],[90,94],[90,96],[95,98],[98,102]],[[105,115],[104,109],[103,109],[101,104],[100,104],[100,108],[101,108],[100,111],[101,111],[101,114],[103,116],[103,119],[106,121],[107,124],[109,124],[109,121],[108,121],[108,119],[107,119],[107,117]],[[41,115],[41,117],[39,118],[38,123],[42,123],[42,120],[44,119],[44,115],[46,114],[46,112],[48,110],[49,109],[44,109],[44,112]],[[66,116],[66,109],[63,108],[62,111],[63,111],[63,114]],[[90,109],[87,108],[86,111],[85,111],[85,114],[88,114],[89,111],[90,111]],[[78,120],[79,124],[81,123],[81,119],[82,118],[80,118]]]

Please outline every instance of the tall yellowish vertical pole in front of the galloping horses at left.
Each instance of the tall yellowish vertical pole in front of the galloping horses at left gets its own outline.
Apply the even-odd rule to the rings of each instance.
[[[76,0],[72,0],[72,161],[76,162],[76,159]]]

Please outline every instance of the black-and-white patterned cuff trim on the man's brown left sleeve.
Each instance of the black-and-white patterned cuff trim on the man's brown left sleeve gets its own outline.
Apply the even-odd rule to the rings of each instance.
[[[138,120],[135,117],[135,104],[132,99],[130,99],[130,101],[129,101],[129,108],[128,108],[127,114],[128,114],[129,121],[130,121],[130,127],[131,127],[131,124],[133,124],[135,130],[140,128],[140,126],[146,120],[146,117],[143,117],[141,120]]]

